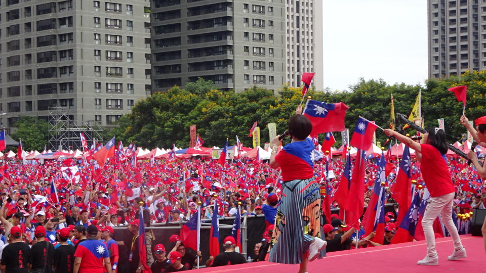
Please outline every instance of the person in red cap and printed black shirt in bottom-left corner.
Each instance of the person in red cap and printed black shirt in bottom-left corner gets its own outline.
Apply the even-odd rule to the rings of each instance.
[[[28,273],[30,248],[22,242],[22,231],[18,226],[10,229],[10,243],[2,251],[0,268],[2,272]]]

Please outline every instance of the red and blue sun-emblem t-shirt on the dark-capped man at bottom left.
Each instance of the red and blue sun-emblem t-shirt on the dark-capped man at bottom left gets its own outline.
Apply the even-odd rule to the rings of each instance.
[[[104,242],[89,238],[77,245],[74,257],[82,258],[79,273],[103,273],[103,258],[110,254]]]

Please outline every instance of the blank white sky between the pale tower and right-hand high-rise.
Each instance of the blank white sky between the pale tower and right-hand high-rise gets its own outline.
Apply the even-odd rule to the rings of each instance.
[[[323,5],[324,86],[359,77],[389,84],[427,78],[427,1],[347,0]]]

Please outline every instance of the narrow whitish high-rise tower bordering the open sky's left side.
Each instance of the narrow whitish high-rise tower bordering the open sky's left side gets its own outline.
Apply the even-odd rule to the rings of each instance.
[[[314,72],[312,85],[322,90],[322,1],[286,1],[286,82],[300,87],[302,72]]]

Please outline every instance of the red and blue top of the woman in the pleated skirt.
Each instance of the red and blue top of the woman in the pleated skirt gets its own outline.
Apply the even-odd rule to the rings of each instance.
[[[284,149],[275,156],[275,160],[282,168],[282,180],[311,178],[314,175],[312,162],[314,148],[314,143],[309,138],[284,146]]]

